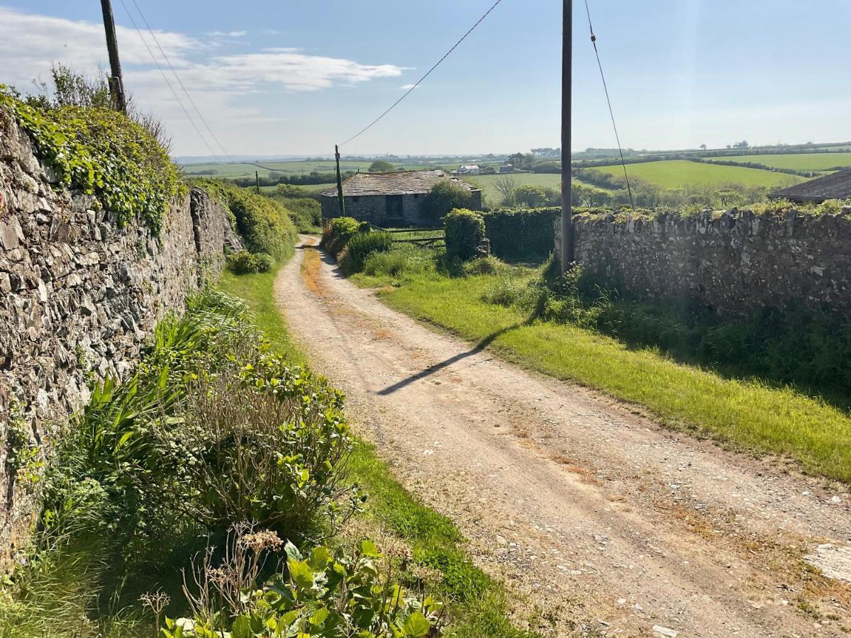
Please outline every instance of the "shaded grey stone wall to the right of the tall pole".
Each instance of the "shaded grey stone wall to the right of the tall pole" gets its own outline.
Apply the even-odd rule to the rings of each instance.
[[[580,216],[575,229],[576,260],[643,298],[700,299],[729,315],[793,300],[851,314],[851,208],[820,217],[736,209]]]

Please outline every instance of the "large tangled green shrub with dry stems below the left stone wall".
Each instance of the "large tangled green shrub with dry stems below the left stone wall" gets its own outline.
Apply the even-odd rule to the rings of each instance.
[[[44,525],[85,521],[133,564],[181,521],[197,535],[251,518],[295,539],[356,510],[340,392],[248,325],[222,293],[157,324],[137,373],[97,385],[61,437]]]

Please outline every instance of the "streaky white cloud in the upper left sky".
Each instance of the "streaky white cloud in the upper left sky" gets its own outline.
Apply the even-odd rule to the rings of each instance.
[[[121,17],[117,16],[119,20]],[[194,117],[191,105],[168,70],[156,43],[147,31],[143,31],[143,41],[134,29],[117,25],[116,30],[124,85],[134,95],[136,104],[142,110],[155,112],[174,131],[177,151],[206,152],[198,147],[197,134],[151,61],[146,43]],[[276,88],[317,91],[335,85],[351,86],[399,77],[403,73],[403,68],[395,65],[364,65],[355,60],[305,54],[299,48],[213,54],[223,42],[221,39],[216,42],[217,37],[242,37],[245,31],[215,31],[208,34],[209,40],[179,32],[154,32],[204,117],[218,134],[237,140],[237,144],[244,144],[243,140],[254,135],[248,133],[251,125],[280,121],[278,113],[269,114],[252,105],[253,94]],[[98,67],[108,69],[106,41],[100,22],[66,20],[0,7],[0,83],[26,90],[31,88],[33,79],[49,78],[55,62],[89,73]],[[201,127],[200,122],[198,126]]]

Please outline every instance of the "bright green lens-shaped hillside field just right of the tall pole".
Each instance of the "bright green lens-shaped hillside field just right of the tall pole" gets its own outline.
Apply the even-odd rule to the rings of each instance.
[[[590,170],[601,171],[614,176],[623,176],[620,166],[602,166]],[[741,166],[719,166],[688,160],[669,160],[629,164],[626,167],[630,177],[637,177],[662,188],[679,188],[686,184],[722,185],[743,184],[747,186],[785,186],[797,184],[806,179],[797,175],[772,173],[760,168]],[[557,177],[555,175],[554,177]]]

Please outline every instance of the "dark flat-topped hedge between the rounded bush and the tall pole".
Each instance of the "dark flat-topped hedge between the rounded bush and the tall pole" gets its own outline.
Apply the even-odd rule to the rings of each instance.
[[[498,208],[484,213],[490,251],[501,259],[546,259],[561,208]]]

